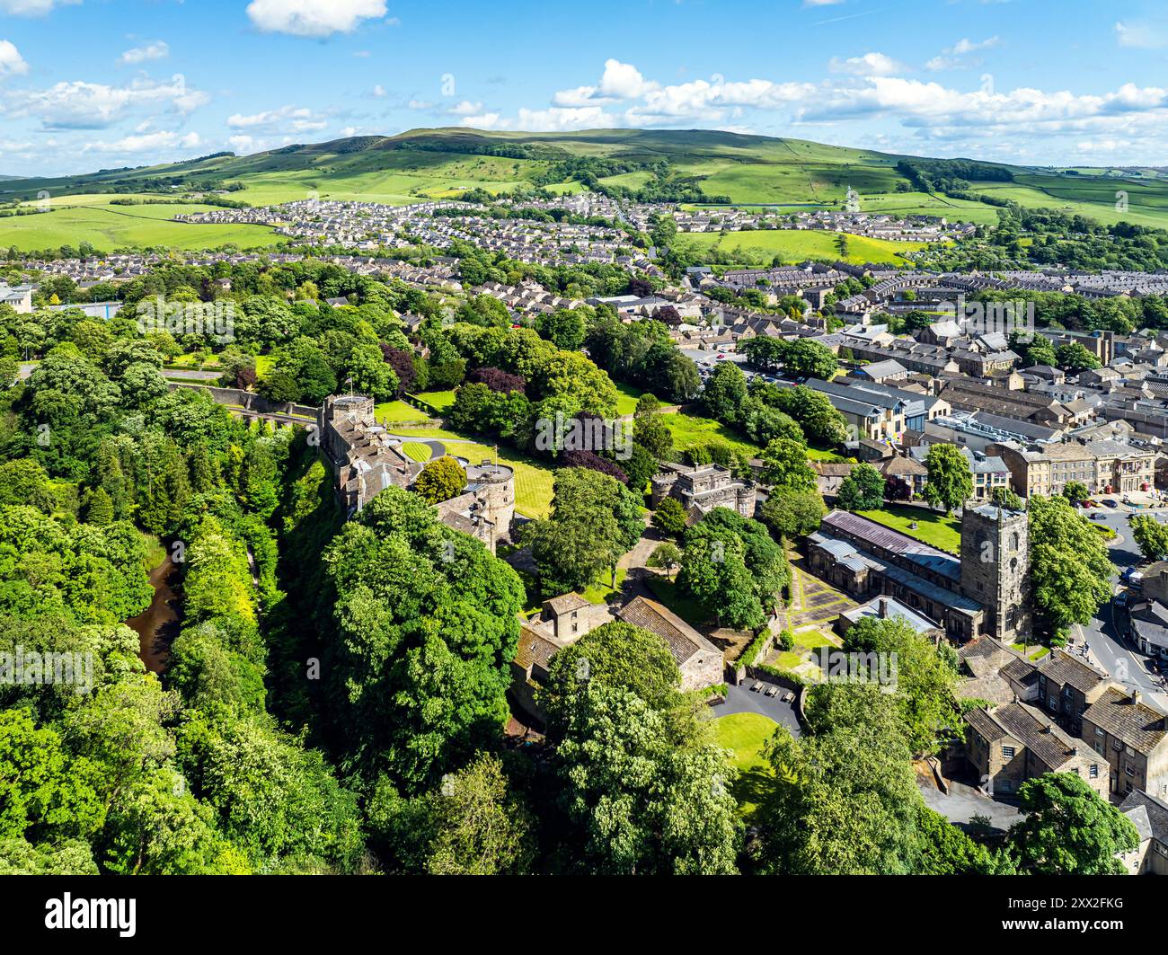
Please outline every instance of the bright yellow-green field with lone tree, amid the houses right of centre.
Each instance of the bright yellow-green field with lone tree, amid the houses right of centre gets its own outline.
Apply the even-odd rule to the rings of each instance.
[[[697,232],[686,233],[677,238],[677,244],[684,249],[708,253],[717,250],[734,256],[744,265],[769,264],[776,256],[786,263],[802,262],[807,258],[839,259],[840,232],[821,230],[764,229],[742,232]],[[867,236],[846,236],[846,262],[861,264],[865,262],[905,265],[901,253],[915,252],[926,248],[923,242],[890,242],[874,239]]]

